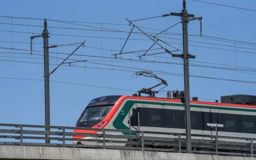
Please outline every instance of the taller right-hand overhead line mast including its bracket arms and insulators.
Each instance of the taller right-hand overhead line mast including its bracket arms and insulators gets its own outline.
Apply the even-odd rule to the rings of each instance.
[[[136,20],[126,19],[126,20],[129,21],[129,23],[133,25],[133,28],[136,27],[143,34],[145,34],[149,39],[154,41],[154,44],[152,44],[151,47],[148,50],[150,50],[153,47],[153,45],[157,44],[158,46],[160,46],[160,48],[164,49],[166,51],[166,53],[170,53],[172,55],[172,57],[183,58],[185,94],[183,92],[182,98],[184,100],[182,100],[182,102],[184,103],[185,110],[186,110],[186,152],[191,153],[191,112],[190,112],[190,91],[189,91],[189,58],[196,58],[196,56],[191,55],[188,52],[188,26],[187,26],[187,24],[188,24],[189,21],[192,21],[192,20],[200,20],[200,32],[201,32],[202,31],[202,25],[201,25],[202,24],[201,23],[202,17],[196,17],[195,18],[195,15],[188,14],[188,12],[186,10],[186,0],[183,0],[183,10],[182,10],[181,13],[170,13],[170,14],[165,14],[165,15],[150,17],[150,18],[145,18],[145,19],[152,19],[152,18],[166,17],[166,16],[179,16],[179,17],[181,17],[182,35],[183,35],[183,51],[181,51],[181,49],[179,49],[179,48],[176,48],[176,47],[172,46],[171,44],[168,44],[168,43],[164,42],[163,40],[161,40],[159,38],[156,38],[156,36],[146,34],[138,26],[136,26],[133,23],[134,21],[144,20],[144,19],[136,19]],[[176,24],[174,24],[173,26],[175,26],[175,25]],[[173,26],[171,26],[171,27],[173,27]],[[171,27],[169,27],[168,29],[170,29]],[[164,31],[166,31],[166,30],[164,30]],[[160,32],[159,34],[161,34],[162,32]],[[130,35],[131,35],[131,33],[129,34],[128,38],[130,37]],[[158,34],[156,34],[156,35],[158,35]],[[202,32],[201,32],[201,36],[202,36]],[[126,41],[127,41],[127,39],[126,39]],[[157,40],[155,40],[155,39],[157,39]],[[126,41],[125,41],[125,43],[126,43]],[[160,44],[160,42],[165,43],[165,44],[171,46],[172,48],[176,48],[176,50],[169,51],[167,48],[164,48]],[[147,51],[146,51],[146,53],[147,53]],[[182,54],[173,54],[172,52],[175,52],[175,51],[181,51]],[[146,53],[144,53],[142,56],[145,56]],[[122,54],[122,53],[117,53],[117,54]],[[113,55],[115,55],[115,58],[116,58],[117,54],[113,54]],[[152,54],[147,54],[147,55],[152,55]],[[141,59],[141,56],[140,56],[140,59]]]

